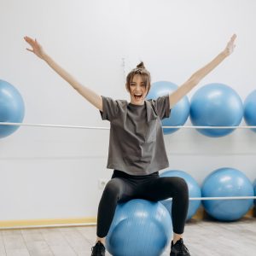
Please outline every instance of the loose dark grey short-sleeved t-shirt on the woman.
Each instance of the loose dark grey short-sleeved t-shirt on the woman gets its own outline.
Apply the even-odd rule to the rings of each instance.
[[[108,168],[147,175],[169,166],[160,119],[169,117],[169,96],[134,105],[102,96],[102,119],[110,121]]]

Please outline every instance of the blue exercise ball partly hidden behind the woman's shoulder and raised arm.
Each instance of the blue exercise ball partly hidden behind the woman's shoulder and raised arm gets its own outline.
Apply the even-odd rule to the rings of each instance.
[[[165,96],[171,92],[177,90],[177,84],[173,84],[167,81],[159,81],[152,84],[149,90],[147,99],[153,99],[160,96]],[[172,108],[171,115],[169,118],[162,120],[163,126],[178,126],[184,125],[189,117],[189,99],[184,96],[177,104]],[[177,128],[164,128],[164,134],[171,134],[177,131]]]

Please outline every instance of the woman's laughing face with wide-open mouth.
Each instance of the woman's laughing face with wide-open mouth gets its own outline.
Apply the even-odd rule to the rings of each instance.
[[[136,74],[131,83],[129,84],[129,92],[131,97],[131,103],[135,105],[143,105],[145,97],[148,93],[148,88],[143,82],[141,75]]]

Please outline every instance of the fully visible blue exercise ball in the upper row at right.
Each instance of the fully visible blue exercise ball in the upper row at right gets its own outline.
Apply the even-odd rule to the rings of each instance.
[[[190,119],[196,126],[236,126],[241,123],[240,96],[225,84],[207,84],[195,92],[190,102]],[[223,137],[235,129],[197,129],[207,137]]]

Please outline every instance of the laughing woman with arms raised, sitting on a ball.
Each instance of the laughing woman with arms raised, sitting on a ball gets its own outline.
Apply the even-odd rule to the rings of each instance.
[[[150,90],[150,73],[143,62],[140,63],[126,78],[125,85],[130,94],[130,102],[114,101],[112,98],[97,95],[60,67],[45,53],[36,39],[24,39],[32,47],[27,50],[46,61],[61,78],[100,110],[102,119],[108,119],[111,123],[108,168],[114,171],[99,204],[96,245],[92,247],[91,256],[105,255],[105,237],[118,202],[133,198],[161,201],[170,197],[173,226],[170,255],[189,256],[189,250],[183,244],[183,230],[189,205],[188,187],[180,177],[159,177],[158,172],[169,166],[160,119],[168,117],[170,109],[233,52],[236,35],[230,38],[223,51],[195,72],[176,91],[154,101],[145,99]]]

